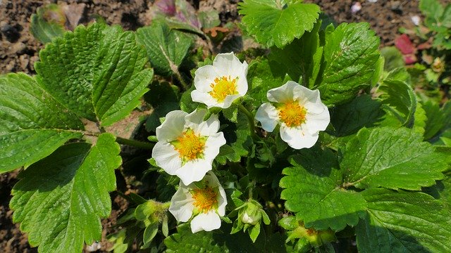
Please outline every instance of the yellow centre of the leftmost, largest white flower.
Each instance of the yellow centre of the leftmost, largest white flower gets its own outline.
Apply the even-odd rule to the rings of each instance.
[[[184,162],[188,162],[204,155],[205,142],[206,137],[202,137],[200,134],[196,135],[192,129],[187,129],[182,136],[171,144],[178,151],[179,157]]]

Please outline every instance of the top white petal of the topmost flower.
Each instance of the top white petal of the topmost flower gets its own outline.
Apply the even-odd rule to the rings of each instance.
[[[242,74],[245,67],[247,68],[247,63],[243,66],[243,63],[240,62],[233,52],[218,53],[213,60],[213,67],[220,77],[230,76],[233,79]]]

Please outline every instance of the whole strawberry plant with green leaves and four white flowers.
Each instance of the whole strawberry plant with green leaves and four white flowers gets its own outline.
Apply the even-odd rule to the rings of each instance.
[[[101,240],[133,146],[152,197],[120,193],[113,252],[451,251],[450,106],[384,68],[369,24],[245,0],[231,25],[264,50],[215,54],[214,13],[156,4],[136,32],[58,29],[35,76],[0,76],[0,172],[20,169],[10,207],[30,245]],[[110,130],[143,107],[145,138]]]

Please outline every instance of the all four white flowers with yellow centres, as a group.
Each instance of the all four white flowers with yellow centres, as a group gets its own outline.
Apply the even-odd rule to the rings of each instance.
[[[207,108],[229,108],[247,92],[247,63],[241,63],[233,53],[220,53],[213,65],[196,70],[194,86],[193,101]],[[280,137],[292,148],[310,148],[318,140],[319,131],[329,124],[328,108],[321,103],[317,90],[290,81],[269,90],[267,97],[271,103],[261,105],[256,119],[266,131],[280,124]],[[206,112],[169,112],[156,129],[158,143],[152,150],[156,164],[180,178],[169,212],[177,221],[191,219],[192,233],[220,228],[227,205],[226,193],[211,171],[226,138],[218,132],[218,116],[204,121]]]

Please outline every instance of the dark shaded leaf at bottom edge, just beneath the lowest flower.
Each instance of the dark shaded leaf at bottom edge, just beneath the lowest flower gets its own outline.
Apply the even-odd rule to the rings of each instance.
[[[266,252],[265,238],[259,236],[255,243],[242,232],[230,235],[230,225],[222,224],[221,228],[212,232],[191,233],[190,226],[178,226],[177,233],[164,240],[166,252]]]

